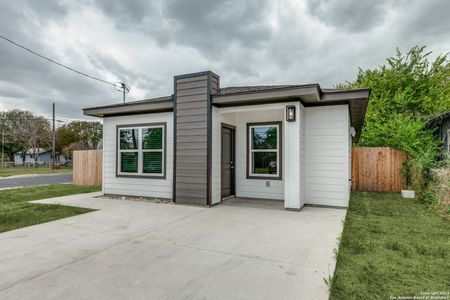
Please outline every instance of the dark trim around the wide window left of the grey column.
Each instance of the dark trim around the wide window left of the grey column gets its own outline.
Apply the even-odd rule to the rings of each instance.
[[[149,152],[142,149],[142,128],[149,127],[161,127],[163,128],[163,173],[161,175],[142,173],[142,160],[143,153]],[[120,130],[121,129],[133,129],[138,128],[138,149],[130,149],[128,152],[138,152],[138,173],[125,173],[119,171],[120,163]],[[150,151],[151,152],[151,151]],[[139,173],[141,170],[141,173]],[[157,123],[139,123],[139,124],[122,124],[116,125],[116,177],[124,178],[147,178],[147,179],[166,179],[167,172],[167,122],[157,122]]]

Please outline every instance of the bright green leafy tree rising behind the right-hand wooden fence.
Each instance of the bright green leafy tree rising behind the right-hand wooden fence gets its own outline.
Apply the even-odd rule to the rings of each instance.
[[[450,61],[439,55],[429,61],[425,46],[403,54],[397,48],[387,64],[373,70],[359,69],[349,87],[371,89],[359,145],[390,146],[410,155],[436,148],[426,120],[450,110]]]

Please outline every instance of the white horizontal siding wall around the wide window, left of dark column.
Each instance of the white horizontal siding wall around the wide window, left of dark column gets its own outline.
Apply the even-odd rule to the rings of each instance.
[[[166,178],[116,177],[117,125],[160,123],[167,124]],[[172,198],[173,183],[173,114],[143,114],[109,117],[103,120],[103,192],[106,194]]]

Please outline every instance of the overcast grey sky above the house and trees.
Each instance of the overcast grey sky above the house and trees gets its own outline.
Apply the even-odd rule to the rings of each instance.
[[[398,46],[450,51],[448,0],[1,1],[0,34],[54,60],[170,95],[173,76],[212,70],[221,86],[354,80]],[[121,101],[113,87],[0,40],[0,110],[79,119]]]

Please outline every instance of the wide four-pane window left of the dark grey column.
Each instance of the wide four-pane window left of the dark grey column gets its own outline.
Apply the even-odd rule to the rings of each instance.
[[[117,176],[165,178],[165,123],[118,126],[117,136]]]

